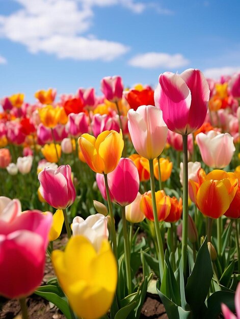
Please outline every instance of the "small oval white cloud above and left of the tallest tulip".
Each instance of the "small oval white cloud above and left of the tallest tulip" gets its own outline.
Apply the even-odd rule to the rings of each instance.
[[[128,64],[135,67],[153,69],[153,68],[178,68],[189,64],[181,54],[169,55],[162,52],[148,52],[137,55],[128,61]]]

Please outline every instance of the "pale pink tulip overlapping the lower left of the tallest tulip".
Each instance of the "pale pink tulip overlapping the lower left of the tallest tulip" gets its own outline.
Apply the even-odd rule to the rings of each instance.
[[[162,114],[152,105],[142,105],[137,111],[130,109],[127,113],[132,144],[145,158],[157,157],[165,147],[168,128]]]

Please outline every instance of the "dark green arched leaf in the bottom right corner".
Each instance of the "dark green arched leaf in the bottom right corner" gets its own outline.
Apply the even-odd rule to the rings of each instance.
[[[212,294],[207,299],[207,310],[204,313],[204,318],[217,318],[221,312],[221,303],[226,304],[231,311],[235,311],[234,291],[216,291]]]

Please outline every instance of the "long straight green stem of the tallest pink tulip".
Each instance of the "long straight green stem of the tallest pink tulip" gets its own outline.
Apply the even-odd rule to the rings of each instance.
[[[188,135],[182,136],[183,143],[183,203],[182,203],[182,268],[183,275],[186,279],[186,258],[188,249],[188,193],[189,193],[189,178],[188,178]]]

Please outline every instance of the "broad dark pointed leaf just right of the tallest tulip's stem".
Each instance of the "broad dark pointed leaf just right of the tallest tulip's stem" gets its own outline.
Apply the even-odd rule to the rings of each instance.
[[[205,308],[204,302],[209,291],[212,275],[211,258],[207,248],[207,238],[205,238],[185,287],[186,302],[190,305],[196,318],[201,317],[201,311]]]

